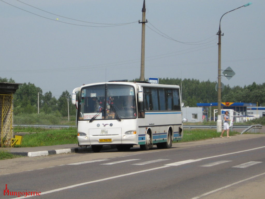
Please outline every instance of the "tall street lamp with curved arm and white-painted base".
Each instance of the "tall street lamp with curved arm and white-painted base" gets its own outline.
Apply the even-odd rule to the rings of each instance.
[[[247,4],[245,4],[244,6],[240,6],[238,8],[242,8],[242,7],[246,7],[251,5],[252,3],[249,2]],[[234,9],[237,10],[238,8]],[[230,10],[229,12],[232,12],[234,10]],[[228,12],[224,13],[222,15],[222,17],[227,14]],[[222,19],[221,17],[221,19]],[[221,120],[221,36],[224,35],[221,32],[221,19],[220,19],[220,23],[219,23],[219,31],[217,32],[218,35],[218,89],[217,89],[217,96],[218,96],[218,118],[217,118],[217,132],[221,132],[222,131],[222,120]]]

